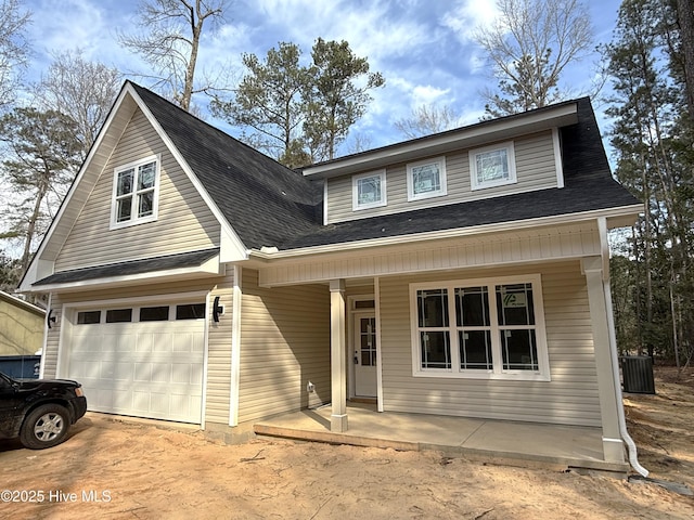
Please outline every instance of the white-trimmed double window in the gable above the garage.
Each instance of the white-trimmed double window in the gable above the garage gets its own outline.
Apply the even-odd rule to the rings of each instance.
[[[156,220],[159,187],[157,156],[114,170],[111,227]]]

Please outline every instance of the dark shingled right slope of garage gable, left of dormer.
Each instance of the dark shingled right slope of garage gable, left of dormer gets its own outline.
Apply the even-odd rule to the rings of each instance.
[[[317,225],[321,186],[133,84],[210,198],[248,248]]]

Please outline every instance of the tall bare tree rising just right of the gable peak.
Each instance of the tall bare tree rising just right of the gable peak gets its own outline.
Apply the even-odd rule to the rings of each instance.
[[[140,54],[156,74],[158,86],[170,89],[170,96],[184,110],[191,109],[194,93],[209,90],[196,86],[195,67],[203,27],[223,18],[227,0],[140,0],[138,25],[143,32],[118,34],[118,40]]]

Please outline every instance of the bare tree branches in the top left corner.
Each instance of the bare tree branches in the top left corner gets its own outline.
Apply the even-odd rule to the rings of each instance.
[[[23,11],[20,0],[0,0],[0,108],[14,100],[29,56],[29,41],[24,34],[31,13]]]

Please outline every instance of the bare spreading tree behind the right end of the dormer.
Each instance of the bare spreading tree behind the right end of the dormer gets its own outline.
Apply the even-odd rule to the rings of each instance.
[[[497,6],[496,23],[475,32],[501,91],[483,93],[487,112],[510,115],[568,96],[560,87],[561,75],[592,48],[586,5],[579,0],[498,0]]]

